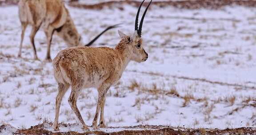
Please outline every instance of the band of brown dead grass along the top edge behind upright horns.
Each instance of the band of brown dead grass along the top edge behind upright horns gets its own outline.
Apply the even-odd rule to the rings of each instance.
[[[69,5],[77,8],[86,8],[86,9],[102,9],[102,8],[119,8],[123,10],[124,8],[120,5],[129,4],[132,6],[139,7],[140,1],[136,0],[113,0],[107,2],[101,2],[98,4],[79,4],[78,0],[71,0]],[[144,2],[144,6],[148,5],[148,2]],[[185,8],[185,9],[198,9],[198,8],[207,8],[207,9],[220,9],[227,5],[240,5],[245,7],[255,7],[255,0],[169,0],[169,1],[152,1],[152,5],[158,7],[167,7],[172,6],[175,8]]]

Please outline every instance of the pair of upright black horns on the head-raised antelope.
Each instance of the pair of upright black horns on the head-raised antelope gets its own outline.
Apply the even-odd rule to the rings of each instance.
[[[146,12],[147,12],[147,10],[148,10],[149,5],[150,5],[151,2],[152,2],[152,0],[150,0],[150,2],[149,2],[149,4],[148,4],[147,8],[145,9],[145,11],[144,11],[144,13],[143,13],[143,16],[141,17],[141,20],[140,20],[140,26],[139,26],[139,28],[138,28],[138,19],[139,19],[139,14],[140,14],[140,8],[141,8],[142,4],[144,3],[144,1],[145,1],[145,0],[143,0],[142,3],[140,4],[140,7],[139,7],[138,12],[137,12],[137,15],[136,15],[136,20],[135,20],[135,31],[137,31],[139,37],[141,37],[141,30],[142,30],[142,24],[143,24],[144,17],[145,17],[145,15],[146,15]]]

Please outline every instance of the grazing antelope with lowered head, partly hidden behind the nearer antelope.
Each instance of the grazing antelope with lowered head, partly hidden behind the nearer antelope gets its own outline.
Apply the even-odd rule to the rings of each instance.
[[[56,31],[69,47],[82,46],[80,34],[76,30],[76,26],[65,7],[62,0],[20,0],[19,4],[19,18],[21,22],[22,32],[20,41],[20,50],[18,57],[21,57],[22,42],[24,39],[24,32],[28,24],[32,25],[30,41],[32,44],[34,59],[38,60],[36,55],[36,47],[34,38],[36,32],[40,27],[44,29],[47,37],[47,56],[46,60],[51,61],[50,48],[52,35]],[[96,41],[104,32],[111,28],[116,28],[116,25],[106,28],[96,38],[85,46],[90,46]]]

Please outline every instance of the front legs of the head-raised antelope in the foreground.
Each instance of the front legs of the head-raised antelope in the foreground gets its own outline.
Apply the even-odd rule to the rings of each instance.
[[[96,107],[95,116],[94,116],[94,119],[92,122],[93,129],[95,129],[95,130],[99,129],[97,126],[99,110],[100,110],[100,107],[102,108],[102,106],[105,105],[104,99],[106,98],[106,94],[107,94],[109,87],[110,87],[110,85],[102,85],[100,88],[98,88],[98,103],[97,103],[97,107]],[[103,116],[104,116],[104,107],[102,108],[101,113],[100,113],[100,119],[101,119],[100,123],[102,122],[101,125],[104,125]]]

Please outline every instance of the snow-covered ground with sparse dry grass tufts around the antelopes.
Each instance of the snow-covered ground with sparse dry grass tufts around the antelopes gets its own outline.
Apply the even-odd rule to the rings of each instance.
[[[68,7],[87,43],[109,25],[132,33],[137,8],[125,5],[103,10]],[[142,8],[144,10],[144,7]],[[43,119],[53,121],[57,84],[52,64],[44,63],[46,38],[35,38],[34,61],[26,30],[23,58],[18,8],[0,8],[0,122],[16,128],[30,127]],[[139,124],[179,127],[255,127],[256,120],[256,8],[225,7],[220,10],[185,10],[152,5],[143,26],[149,59],[131,62],[120,83],[108,91],[105,121],[108,126]],[[117,29],[97,40],[94,47],[114,47]],[[54,36],[51,56],[67,48]],[[76,123],[64,96],[60,122]],[[92,125],[97,91],[84,90],[78,107],[85,123]]]

